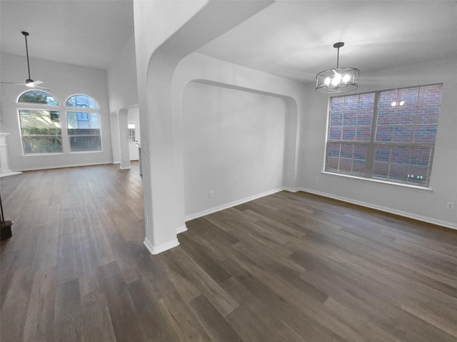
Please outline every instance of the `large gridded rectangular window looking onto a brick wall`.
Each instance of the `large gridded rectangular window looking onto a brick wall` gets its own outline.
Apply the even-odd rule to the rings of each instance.
[[[427,187],[442,85],[331,98],[327,172]]]

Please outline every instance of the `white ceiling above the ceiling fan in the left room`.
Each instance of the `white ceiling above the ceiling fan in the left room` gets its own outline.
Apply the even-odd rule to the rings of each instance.
[[[93,68],[109,67],[134,34],[132,0],[1,0],[2,52]]]

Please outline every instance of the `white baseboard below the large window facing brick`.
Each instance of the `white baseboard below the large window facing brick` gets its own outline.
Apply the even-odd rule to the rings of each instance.
[[[288,191],[290,191],[290,190],[288,190]],[[422,216],[422,215],[411,214],[411,212],[403,212],[402,210],[383,207],[381,205],[376,205],[376,204],[372,204],[372,203],[368,203],[368,202],[358,201],[356,199],[351,199],[351,198],[347,198],[347,197],[336,196],[336,195],[328,194],[326,192],[320,192],[320,191],[307,189],[307,188],[298,188],[297,190],[293,190],[291,192],[297,192],[297,191],[308,192],[310,194],[320,195],[320,196],[328,197],[328,198],[331,198],[331,199],[338,199],[339,201],[348,202],[348,203],[351,203],[351,204],[361,205],[362,207],[367,207],[367,208],[371,208],[371,209],[380,210],[381,212],[388,212],[390,214],[396,214],[396,215],[399,215],[399,216],[408,217],[410,219],[417,219],[418,221],[423,221],[423,222],[427,222],[427,223],[431,223],[431,224],[438,224],[438,226],[443,226],[443,227],[446,227],[446,228],[451,228],[451,229],[456,229],[457,230],[457,224],[452,223],[452,222],[443,221],[441,219],[434,219],[433,217],[426,217],[426,216]]]

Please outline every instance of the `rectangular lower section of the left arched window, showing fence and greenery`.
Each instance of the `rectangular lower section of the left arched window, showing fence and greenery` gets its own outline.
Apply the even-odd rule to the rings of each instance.
[[[19,110],[24,155],[62,153],[58,110]]]

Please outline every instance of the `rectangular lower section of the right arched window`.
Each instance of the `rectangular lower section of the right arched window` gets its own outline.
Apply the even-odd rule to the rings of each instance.
[[[66,112],[71,152],[101,151],[99,113]]]

